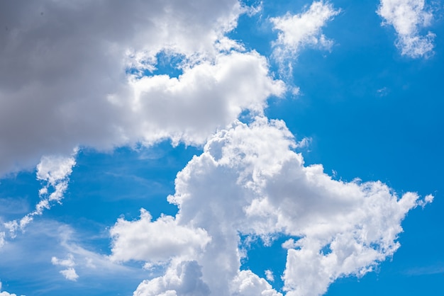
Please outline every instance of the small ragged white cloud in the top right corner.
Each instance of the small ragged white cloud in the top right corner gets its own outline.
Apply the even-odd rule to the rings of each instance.
[[[419,32],[433,18],[424,0],[381,0],[377,13],[384,18],[383,25],[392,25],[396,30],[396,47],[401,55],[418,58],[432,54],[435,34]]]

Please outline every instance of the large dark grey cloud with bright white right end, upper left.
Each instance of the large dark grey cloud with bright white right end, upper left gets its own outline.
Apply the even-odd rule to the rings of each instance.
[[[79,146],[204,144],[284,88],[264,57],[226,38],[249,11],[236,0],[2,1],[0,11],[0,176]],[[180,57],[182,76],[154,74],[160,54]]]

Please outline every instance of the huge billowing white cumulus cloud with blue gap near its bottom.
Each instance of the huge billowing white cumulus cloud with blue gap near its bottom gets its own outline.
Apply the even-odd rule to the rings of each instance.
[[[180,295],[184,281],[177,279],[182,274],[177,268],[189,261],[201,270],[191,283],[219,295],[279,295],[264,278],[240,271],[240,234],[262,237],[264,244],[272,244],[277,234],[287,236],[282,245],[288,249],[284,291],[321,295],[335,279],[362,276],[392,256],[399,248],[396,239],[406,213],[432,200],[416,193],[398,197],[379,181],[335,181],[321,165],[304,166],[296,146],[282,121],[267,118],[256,118],[250,125],[237,122],[213,135],[204,152],[177,174],[176,192],[168,197],[179,207],[176,217],[168,218],[170,223],[188,231],[203,229],[211,241],[202,239],[199,252],[166,251],[162,256],[170,253],[172,261],[165,274],[145,280],[135,295]],[[118,251],[145,252],[146,258],[132,256],[148,261],[156,258],[152,229],[157,221],[141,217],[126,222],[128,227],[121,227],[119,235],[135,237],[133,226],[142,221],[140,241]],[[176,237],[177,232],[166,232],[161,240],[180,239]],[[165,283],[180,283],[179,290]]]

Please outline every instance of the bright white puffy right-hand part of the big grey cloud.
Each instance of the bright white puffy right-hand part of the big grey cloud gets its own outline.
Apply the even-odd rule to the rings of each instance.
[[[172,137],[199,144],[243,110],[262,113],[270,95],[284,92],[284,84],[267,74],[267,61],[257,52],[231,52],[186,69],[179,79],[132,80],[133,100],[121,96],[113,103],[131,108],[132,130],[126,133],[133,139],[151,143]]]

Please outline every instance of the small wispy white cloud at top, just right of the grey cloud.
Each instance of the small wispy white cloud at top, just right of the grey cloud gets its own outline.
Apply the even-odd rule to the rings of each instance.
[[[297,55],[306,46],[329,50],[333,41],[328,40],[321,29],[339,12],[328,2],[313,1],[303,13],[287,13],[285,16],[270,18],[274,29],[279,30],[277,40],[273,43],[274,56],[283,61]]]

